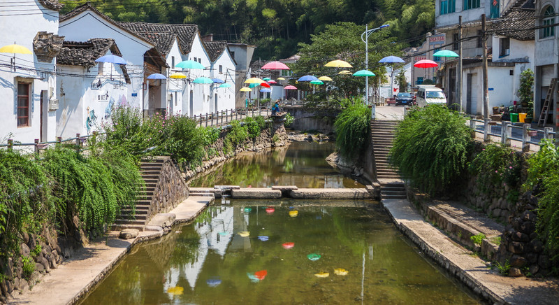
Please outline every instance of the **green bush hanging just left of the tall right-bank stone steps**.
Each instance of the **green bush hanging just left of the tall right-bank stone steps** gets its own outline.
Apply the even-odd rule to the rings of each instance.
[[[334,127],[336,146],[343,157],[354,159],[365,150],[369,140],[371,112],[367,105],[349,105],[337,116]]]

